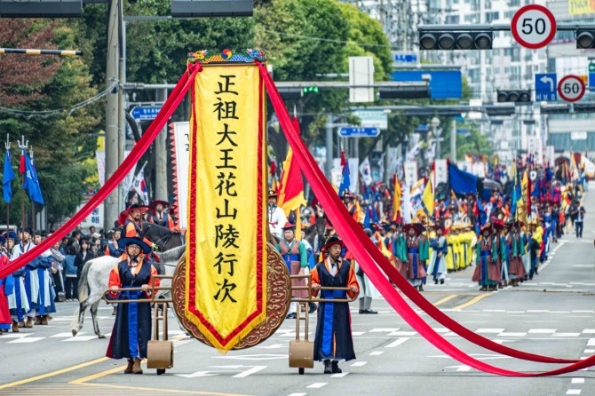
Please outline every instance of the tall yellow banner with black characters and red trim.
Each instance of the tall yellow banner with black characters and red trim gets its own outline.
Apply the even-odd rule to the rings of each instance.
[[[192,90],[186,318],[228,351],[266,319],[265,89],[256,65],[204,65]]]

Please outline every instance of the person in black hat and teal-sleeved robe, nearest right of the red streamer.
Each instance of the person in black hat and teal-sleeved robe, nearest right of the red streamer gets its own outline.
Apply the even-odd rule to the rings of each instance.
[[[429,244],[421,224],[408,224],[403,227],[407,235],[407,279],[411,286],[424,291],[425,262],[428,259]]]

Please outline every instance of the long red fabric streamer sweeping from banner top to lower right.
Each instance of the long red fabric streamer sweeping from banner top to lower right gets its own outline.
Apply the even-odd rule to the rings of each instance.
[[[345,205],[340,201],[334,190],[332,190],[332,187],[329,185],[329,182],[326,180],[326,178],[324,178],[324,175],[321,174],[321,170],[319,170],[318,165],[307,150],[307,147],[305,147],[301,139],[298,138],[298,135],[291,124],[290,115],[287,109],[284,107],[281,96],[279,95],[279,92],[277,91],[270,75],[268,75],[266,68],[263,67],[262,64],[259,64],[258,66],[260,67],[261,75],[263,75],[265,80],[267,92],[271,102],[273,103],[275,113],[279,117],[282,129],[285,131],[285,135],[290,143],[290,147],[296,154],[298,162],[300,163],[300,168],[304,172],[306,179],[310,182],[314,194],[316,194],[318,200],[321,202],[333,225],[336,226],[337,232],[343,236],[347,245],[350,246],[350,250],[353,252],[353,255],[356,257],[363,270],[368,274],[370,281],[372,281],[383,294],[383,296],[386,297],[387,301],[393,306],[397,313],[400,313],[401,317],[407,321],[413,329],[416,329],[422,337],[430,341],[432,345],[436,346],[438,349],[440,349],[440,351],[447,353],[452,358],[468,366],[471,366],[472,368],[501,376],[552,376],[569,373],[581,368],[588,368],[595,365],[595,356],[591,356],[586,360],[580,360],[574,364],[570,364],[566,367],[551,371],[540,373],[520,373],[503,368],[496,368],[480,360],[473,359],[466,353],[456,348],[455,345],[450,344],[444,337],[441,337],[438,333],[436,333],[417,315],[417,313],[407,304],[407,302],[399,295],[399,293],[393,289],[392,285],[385,279],[383,273],[378,270],[377,265],[380,265],[385,273],[389,275],[390,279],[394,281],[406,295],[411,297],[412,301],[424,309],[426,313],[431,314],[433,319],[440,321],[440,323],[445,326],[445,322],[450,323],[451,327],[449,327],[449,329],[472,341],[474,344],[480,345],[494,352],[504,353],[506,355],[524,360],[556,363],[576,361],[548,358],[527,352],[516,351],[512,348],[505,347],[504,345],[498,345],[484,337],[475,335],[469,329],[465,329],[463,326],[456,323],[456,321],[448,318],[447,315],[441,313],[440,310],[431,305],[417,292],[411,293],[415,290],[409,285],[409,282],[405,281],[405,279],[403,279],[396,272],[396,269],[393,268],[393,265],[390,265],[382,253],[377,250],[377,247],[373,244],[373,242],[371,242],[369,238],[363,233],[361,227],[348,216],[348,213],[345,210]],[[437,314],[435,311],[438,311],[440,314]],[[440,318],[440,320],[434,317],[434,315]]]

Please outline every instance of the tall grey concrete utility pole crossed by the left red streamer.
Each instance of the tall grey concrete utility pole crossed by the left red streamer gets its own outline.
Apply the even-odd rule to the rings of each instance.
[[[119,56],[120,56],[120,21],[122,19],[122,0],[110,0],[109,22],[107,27],[107,65],[106,85],[112,86],[119,80]],[[118,90],[119,91],[119,90]],[[106,104],[106,182],[118,168],[119,140],[118,140],[118,119],[119,119],[119,94],[118,91],[107,92]],[[119,205],[118,191],[112,192],[105,201],[105,222],[104,228],[111,229],[118,216]]]

